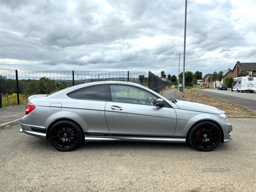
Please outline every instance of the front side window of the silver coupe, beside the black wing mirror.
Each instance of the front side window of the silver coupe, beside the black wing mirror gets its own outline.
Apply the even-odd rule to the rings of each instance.
[[[136,87],[124,85],[111,85],[113,102],[154,105],[157,97]]]

